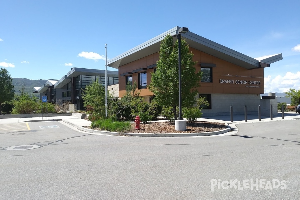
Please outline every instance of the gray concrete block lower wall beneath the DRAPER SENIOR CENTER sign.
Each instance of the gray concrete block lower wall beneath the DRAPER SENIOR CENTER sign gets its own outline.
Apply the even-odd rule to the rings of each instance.
[[[259,103],[260,96],[256,94],[211,94],[211,109],[202,109],[202,113],[203,117],[230,115],[233,106],[234,115],[244,115],[247,106],[247,114],[257,114]]]

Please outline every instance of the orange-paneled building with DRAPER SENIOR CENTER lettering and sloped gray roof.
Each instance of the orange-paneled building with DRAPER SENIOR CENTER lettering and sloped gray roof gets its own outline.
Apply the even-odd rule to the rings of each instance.
[[[167,34],[178,34],[179,28],[174,27],[108,61],[108,66],[119,69],[119,97],[125,93],[127,82],[136,81],[140,95],[146,101],[152,100],[147,86],[151,72],[155,73],[161,40]],[[203,116],[229,115],[230,106],[235,114],[243,114],[244,106],[249,114],[258,112],[259,94],[264,93],[264,67],[281,60],[281,53],[251,58],[190,31],[181,37],[190,45],[193,60],[198,61],[196,71],[203,72],[198,97],[206,97],[210,103],[202,109]]]

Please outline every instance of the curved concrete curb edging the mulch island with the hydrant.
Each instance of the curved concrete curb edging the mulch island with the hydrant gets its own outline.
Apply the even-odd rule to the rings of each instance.
[[[214,131],[214,132],[204,132],[204,133],[117,133],[117,132],[109,132],[109,131],[101,131],[101,130],[93,130],[93,129],[84,128],[84,127],[78,126],[76,124],[73,124],[71,122],[65,121],[64,119],[62,121],[67,124],[70,124],[73,127],[76,127],[79,130],[82,130],[82,131],[85,131],[88,133],[97,133],[97,134],[114,135],[114,136],[125,135],[125,136],[137,136],[137,137],[190,137],[190,136],[220,135],[220,134],[231,131],[231,127],[227,123],[225,123],[225,125],[227,126],[226,129],[218,130],[218,131]]]

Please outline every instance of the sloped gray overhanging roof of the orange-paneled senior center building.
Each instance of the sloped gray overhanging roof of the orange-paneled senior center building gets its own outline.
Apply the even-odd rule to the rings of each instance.
[[[148,55],[151,55],[153,53],[156,53],[160,49],[161,40],[164,39],[164,37],[167,34],[176,35],[179,30],[179,26],[176,26],[169,31],[166,31],[151,40],[148,40],[145,43],[140,44],[139,46],[134,47],[133,49],[128,50],[127,52],[109,60],[107,62],[107,66],[113,67],[118,69],[119,66],[128,64],[130,62],[133,62],[135,60],[138,60],[140,58],[146,57]],[[198,49],[199,51],[205,52],[209,55],[215,56],[217,58],[223,59],[225,61],[228,61],[230,63],[236,64],[238,66],[244,67],[246,69],[255,69],[261,67],[259,61],[255,58],[251,58],[250,56],[244,55],[240,52],[237,52],[233,49],[230,49],[226,46],[220,45],[216,42],[213,42],[211,40],[208,40],[204,37],[201,37],[193,32],[187,32],[184,34],[181,34],[181,37],[187,41],[187,43],[190,45],[190,47],[194,49]],[[176,38],[174,38],[176,40]],[[270,58],[268,58],[270,59]],[[282,54],[276,54],[276,58],[271,61],[278,61],[282,59]],[[264,62],[268,63],[268,62]],[[269,64],[269,63],[268,63]]]

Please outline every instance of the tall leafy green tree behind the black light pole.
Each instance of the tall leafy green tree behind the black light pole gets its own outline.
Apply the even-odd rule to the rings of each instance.
[[[181,41],[181,81],[182,81],[182,107],[191,107],[195,103],[195,97],[200,86],[202,72],[196,72],[193,61],[193,53],[185,40]],[[172,106],[174,118],[176,106],[179,106],[178,86],[178,41],[173,44],[173,37],[168,34],[161,41],[159,60],[156,71],[151,74],[149,90],[155,95],[155,100],[161,106]]]

